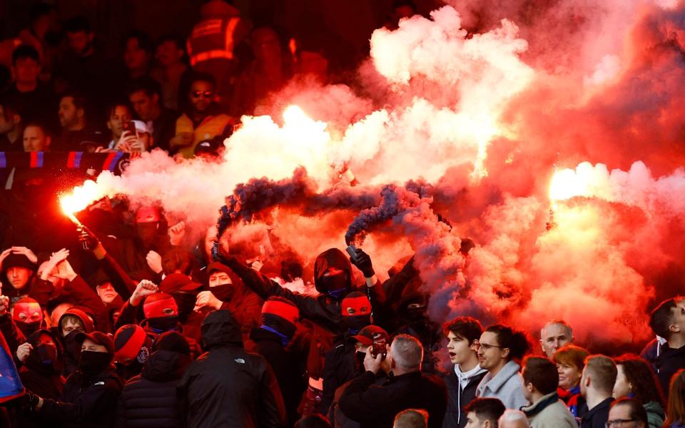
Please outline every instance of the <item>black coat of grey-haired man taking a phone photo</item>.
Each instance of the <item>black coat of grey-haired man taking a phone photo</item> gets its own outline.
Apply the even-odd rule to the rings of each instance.
[[[447,391],[440,377],[412,372],[392,377],[382,386],[373,384],[375,379],[375,374],[365,372],[340,396],[340,410],[361,428],[390,428],[395,415],[405,409],[425,409],[430,414],[428,427],[442,427]]]

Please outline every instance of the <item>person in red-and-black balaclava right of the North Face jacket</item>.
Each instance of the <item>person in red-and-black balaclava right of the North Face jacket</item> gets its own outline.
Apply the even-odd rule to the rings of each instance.
[[[298,419],[298,404],[307,389],[304,361],[307,355],[291,346],[300,311],[283,297],[269,297],[262,307],[262,323],[250,332],[245,347],[265,357],[283,392],[288,427]]]

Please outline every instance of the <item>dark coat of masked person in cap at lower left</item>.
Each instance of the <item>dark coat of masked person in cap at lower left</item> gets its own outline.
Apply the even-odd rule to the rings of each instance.
[[[39,412],[66,427],[112,427],[122,387],[114,366],[91,378],[77,370],[66,379],[59,401],[45,399]]]

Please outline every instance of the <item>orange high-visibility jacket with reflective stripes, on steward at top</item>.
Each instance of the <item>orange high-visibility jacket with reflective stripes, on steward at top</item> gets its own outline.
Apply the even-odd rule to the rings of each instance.
[[[213,58],[232,60],[239,25],[238,16],[210,18],[196,24],[186,43],[191,66]]]

